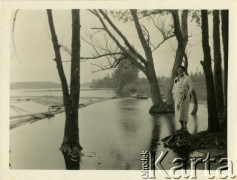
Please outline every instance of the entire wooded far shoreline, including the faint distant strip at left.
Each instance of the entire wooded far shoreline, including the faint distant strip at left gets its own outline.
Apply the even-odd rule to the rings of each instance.
[[[117,70],[118,71],[118,70]],[[143,94],[151,96],[149,82],[145,77],[138,77],[137,75],[132,77],[129,72],[130,69],[123,70],[123,76],[120,75],[119,79],[115,77],[116,70],[112,75],[107,74],[104,78],[93,79],[91,82],[81,84],[82,87],[90,88],[115,88],[118,96],[127,97],[132,94]],[[132,70],[134,71],[134,70]],[[118,74],[118,73],[117,73]],[[119,76],[119,75],[117,75]],[[127,77],[126,77],[127,76]],[[130,78],[128,78],[130,77]],[[205,75],[203,72],[190,73],[190,77],[193,81],[193,86],[197,92],[199,100],[206,100],[206,84]],[[168,92],[170,77],[157,77],[160,82],[162,95],[165,99]],[[124,79],[124,80],[123,80]],[[10,84],[10,89],[51,89],[61,88],[60,83],[54,82],[15,82]]]

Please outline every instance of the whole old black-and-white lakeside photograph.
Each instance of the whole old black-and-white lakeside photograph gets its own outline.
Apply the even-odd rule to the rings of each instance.
[[[9,8],[9,177],[236,178],[233,9],[158,4]]]

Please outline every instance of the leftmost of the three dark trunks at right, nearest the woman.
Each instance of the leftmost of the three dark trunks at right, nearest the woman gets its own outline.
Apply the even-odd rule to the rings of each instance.
[[[219,119],[216,106],[216,93],[214,88],[214,80],[211,67],[211,53],[209,46],[208,33],[208,13],[202,10],[202,47],[204,61],[201,61],[206,78],[207,87],[207,109],[208,109],[208,131],[219,131]]]

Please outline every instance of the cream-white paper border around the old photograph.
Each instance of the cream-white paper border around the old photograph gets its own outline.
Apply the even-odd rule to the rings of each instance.
[[[229,69],[228,69],[228,157],[236,174],[237,146],[237,1],[235,0],[132,0],[132,1],[2,1],[0,14],[0,180],[69,180],[69,179],[141,179],[137,170],[11,170],[9,169],[9,89],[10,89],[10,12],[13,9],[228,9]],[[206,179],[198,171],[198,179]],[[162,177],[157,174],[156,179]],[[164,178],[165,179],[165,178]],[[215,179],[218,179],[216,177]]]

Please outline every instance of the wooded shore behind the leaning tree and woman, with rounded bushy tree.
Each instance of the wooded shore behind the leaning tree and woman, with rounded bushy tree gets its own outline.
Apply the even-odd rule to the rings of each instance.
[[[118,68],[117,68],[118,69]],[[118,70],[115,70],[112,75],[107,74],[104,78],[94,79],[90,83],[90,88],[116,88],[117,95],[126,97],[132,94],[143,94],[151,96],[149,82],[145,77],[132,77],[131,72],[133,70],[123,69],[123,73],[120,73],[120,77],[117,78],[116,74]],[[127,73],[127,74],[126,74]],[[130,74],[128,74],[130,73]],[[117,75],[118,76],[118,75]],[[189,75],[193,81],[193,86],[196,90],[197,97],[199,100],[206,100],[206,83],[205,75],[203,72],[190,73]],[[170,77],[157,77],[160,82],[160,88],[164,99],[167,96],[169,84],[171,81]],[[122,82],[121,82],[122,81]]]

